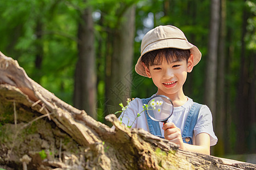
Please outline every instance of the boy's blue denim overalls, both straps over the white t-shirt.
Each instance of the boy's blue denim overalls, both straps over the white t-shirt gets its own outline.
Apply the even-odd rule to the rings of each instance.
[[[142,105],[147,104],[150,99],[151,97],[147,99],[141,99]],[[201,106],[201,104],[194,102],[191,109],[188,112],[187,120],[185,121],[183,132],[181,133],[181,137],[184,143],[193,145],[193,130],[196,126],[197,117]],[[146,114],[147,125],[150,133],[157,137],[164,138],[161,134],[159,122],[151,120],[151,118],[148,117],[146,111],[144,111],[144,113]]]

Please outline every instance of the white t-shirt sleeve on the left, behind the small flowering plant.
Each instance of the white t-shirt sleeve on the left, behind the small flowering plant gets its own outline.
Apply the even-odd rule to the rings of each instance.
[[[131,128],[137,128],[137,113],[139,113],[139,103],[141,99],[135,98],[129,103],[129,106],[125,111],[119,116],[119,120],[126,126],[131,126]]]

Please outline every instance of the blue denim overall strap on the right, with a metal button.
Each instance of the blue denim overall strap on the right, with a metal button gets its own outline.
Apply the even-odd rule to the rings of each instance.
[[[193,144],[193,133],[194,128],[196,126],[197,118],[199,115],[199,111],[202,105],[198,103],[193,103],[191,109],[188,112],[187,120],[185,121],[182,138],[184,143]]]

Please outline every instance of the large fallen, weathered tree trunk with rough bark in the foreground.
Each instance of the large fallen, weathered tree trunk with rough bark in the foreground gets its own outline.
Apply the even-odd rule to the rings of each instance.
[[[0,52],[0,167],[6,169],[255,169],[179,150],[144,131],[115,130],[64,103]],[[44,118],[45,117],[45,118]]]

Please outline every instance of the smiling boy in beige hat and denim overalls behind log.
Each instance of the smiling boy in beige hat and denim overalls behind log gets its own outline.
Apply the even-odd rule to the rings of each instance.
[[[158,87],[155,95],[165,95],[172,100],[174,112],[166,124],[154,122],[147,118],[146,112],[142,112],[143,104],[150,98],[136,98],[121,114],[123,124],[128,125],[135,120],[131,128],[143,128],[176,143],[183,150],[209,155],[210,146],[217,143],[212,114],[206,105],[194,103],[183,92],[187,73],[192,71],[200,59],[199,49],[188,42],[179,28],[166,25],[147,32],[142,39],[141,56],[135,71],[152,79]],[[137,113],[141,112],[141,116],[136,118]],[[159,125],[160,128],[148,128],[151,124]]]

